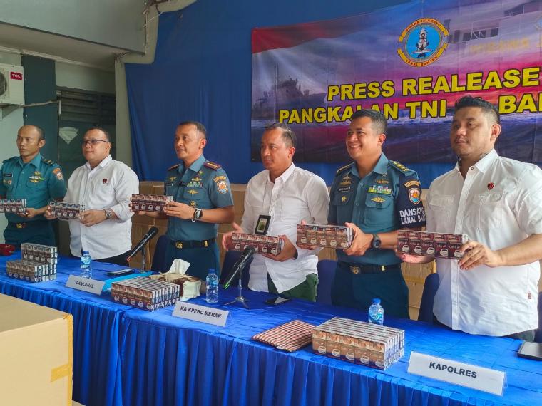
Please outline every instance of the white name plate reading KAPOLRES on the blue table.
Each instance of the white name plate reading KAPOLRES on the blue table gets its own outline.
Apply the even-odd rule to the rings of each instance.
[[[410,353],[409,373],[503,395],[506,373],[420,353]]]

